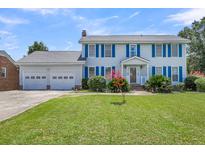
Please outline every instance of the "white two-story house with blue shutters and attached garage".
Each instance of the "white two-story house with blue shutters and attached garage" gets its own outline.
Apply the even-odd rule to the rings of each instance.
[[[174,35],[88,35],[82,52],[34,52],[18,61],[23,89],[71,89],[82,78],[120,71],[130,84],[143,85],[162,74],[172,84],[186,77],[189,40]]]

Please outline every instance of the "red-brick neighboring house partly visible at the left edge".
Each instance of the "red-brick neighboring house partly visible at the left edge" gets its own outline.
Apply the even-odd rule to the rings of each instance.
[[[18,67],[5,51],[0,50],[0,90],[16,90],[18,88]]]

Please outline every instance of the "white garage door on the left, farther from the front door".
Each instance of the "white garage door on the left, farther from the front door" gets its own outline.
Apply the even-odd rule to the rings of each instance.
[[[46,72],[25,72],[24,89],[47,89]]]

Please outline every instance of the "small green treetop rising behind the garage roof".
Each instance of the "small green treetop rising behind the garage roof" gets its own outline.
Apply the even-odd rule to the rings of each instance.
[[[35,41],[33,45],[28,47],[28,54],[34,51],[48,51],[48,47],[43,42]]]

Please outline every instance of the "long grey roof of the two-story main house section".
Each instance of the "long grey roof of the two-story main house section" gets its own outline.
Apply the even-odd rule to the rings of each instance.
[[[80,43],[189,43],[176,35],[88,35]]]

